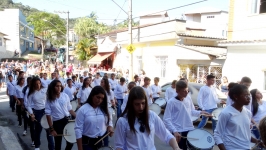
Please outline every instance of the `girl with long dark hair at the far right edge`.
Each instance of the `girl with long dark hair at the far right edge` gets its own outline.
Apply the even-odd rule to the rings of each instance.
[[[250,93],[252,96],[252,133],[257,139],[260,139],[258,126],[260,120],[266,116],[266,101],[262,100],[263,96],[258,89],[253,89]]]

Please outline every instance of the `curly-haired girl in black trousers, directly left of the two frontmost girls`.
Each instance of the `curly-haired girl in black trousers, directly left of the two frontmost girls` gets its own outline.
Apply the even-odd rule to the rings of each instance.
[[[68,82],[72,82],[71,79]],[[47,90],[47,101],[45,104],[45,114],[47,122],[50,126],[50,134],[54,136],[55,150],[61,150],[62,136],[57,134],[63,134],[64,127],[68,123],[70,114],[76,116],[72,110],[70,99],[67,94],[61,93],[63,91],[62,83],[59,80],[53,80]],[[51,120],[53,118],[53,122]],[[72,143],[66,141],[65,150],[71,150]]]

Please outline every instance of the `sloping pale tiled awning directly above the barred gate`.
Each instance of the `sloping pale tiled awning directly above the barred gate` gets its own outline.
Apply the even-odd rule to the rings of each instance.
[[[197,46],[197,45],[182,45],[177,44],[176,46],[190,49],[196,52],[200,52],[207,55],[212,55],[220,59],[225,59],[227,54],[227,49],[223,47],[210,47],[210,46]]]

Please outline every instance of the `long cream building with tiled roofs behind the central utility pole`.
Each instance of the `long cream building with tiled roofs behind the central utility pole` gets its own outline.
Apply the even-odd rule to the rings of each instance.
[[[225,38],[207,36],[204,34],[206,29],[189,28],[185,20],[165,21],[166,17],[165,12],[143,15],[141,25],[133,28],[134,73],[139,74],[143,69],[150,78],[160,77],[161,84],[180,76],[191,82],[204,82],[203,78],[209,73],[220,78],[226,49],[217,47],[217,41]],[[98,53],[106,54],[103,60],[111,60],[112,67],[119,70],[129,69],[127,29],[99,35],[97,44]],[[95,63],[93,60],[89,63]]]

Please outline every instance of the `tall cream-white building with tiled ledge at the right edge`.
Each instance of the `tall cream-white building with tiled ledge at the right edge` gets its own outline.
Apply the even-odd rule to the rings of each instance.
[[[266,90],[266,3],[260,0],[230,0],[228,40],[223,75],[236,82],[252,79],[251,89]]]

